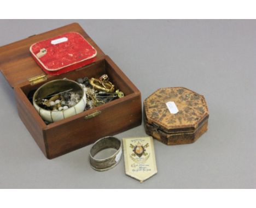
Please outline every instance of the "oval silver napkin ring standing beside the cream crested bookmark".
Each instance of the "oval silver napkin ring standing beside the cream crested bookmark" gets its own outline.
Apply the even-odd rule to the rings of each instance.
[[[120,161],[122,155],[121,141],[115,137],[104,137],[97,140],[90,150],[91,167],[98,171],[109,170],[115,167]],[[94,156],[103,149],[114,148],[117,151],[110,157],[104,159],[96,159]]]

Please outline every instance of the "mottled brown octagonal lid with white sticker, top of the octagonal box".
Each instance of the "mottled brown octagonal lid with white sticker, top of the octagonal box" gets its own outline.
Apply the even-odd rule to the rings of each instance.
[[[166,103],[174,102],[177,113]],[[167,133],[195,131],[209,112],[205,97],[184,87],[160,88],[144,100],[146,122]]]

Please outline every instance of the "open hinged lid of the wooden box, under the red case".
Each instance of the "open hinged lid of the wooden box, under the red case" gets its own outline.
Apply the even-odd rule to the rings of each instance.
[[[85,33],[78,23],[72,23],[71,25],[50,30],[49,32],[33,35],[0,47],[0,70],[11,87],[26,82],[28,79],[45,75],[44,71],[31,57],[30,46],[32,44],[67,32],[78,32],[83,35],[97,51],[96,61],[105,56],[103,51],[95,44],[89,35]],[[46,75],[46,77],[50,76],[51,75]]]

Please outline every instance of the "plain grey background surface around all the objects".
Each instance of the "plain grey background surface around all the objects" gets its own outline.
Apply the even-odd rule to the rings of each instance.
[[[0,45],[74,20],[2,20]],[[206,97],[208,131],[194,144],[154,140],[158,174],[139,183],[124,161],[96,172],[91,146],[47,160],[18,117],[0,76],[1,188],[256,188],[254,20],[78,20],[141,90],[183,86]],[[72,130],[70,130],[72,131]],[[143,125],[118,138],[146,136]]]

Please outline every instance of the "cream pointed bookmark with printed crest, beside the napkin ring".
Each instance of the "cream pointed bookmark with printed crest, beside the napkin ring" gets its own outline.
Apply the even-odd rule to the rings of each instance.
[[[141,182],[155,175],[155,150],[152,137],[123,138],[125,173]]]

